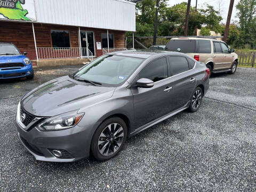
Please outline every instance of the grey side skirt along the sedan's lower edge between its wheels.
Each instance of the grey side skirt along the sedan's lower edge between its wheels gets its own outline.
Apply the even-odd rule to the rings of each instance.
[[[179,109],[176,109],[176,110],[172,111],[171,113],[166,114],[166,115],[164,115],[162,117],[159,117],[159,118],[155,119],[154,121],[147,123],[146,125],[143,125],[143,126],[139,127],[138,129],[136,129],[135,131],[130,133],[130,137],[132,137],[133,135],[135,135],[135,134],[137,134],[137,133],[139,133],[141,131],[144,131],[144,130],[148,129],[149,127],[151,127],[151,126],[153,126],[153,125],[155,125],[155,124],[157,124],[159,122],[164,121],[165,119],[167,119],[167,118],[169,118],[169,117],[171,117],[171,116],[173,116],[175,114],[180,113],[181,111],[187,109],[189,107],[189,104],[190,104],[190,101],[188,101],[185,106],[183,106],[183,107],[181,107]]]

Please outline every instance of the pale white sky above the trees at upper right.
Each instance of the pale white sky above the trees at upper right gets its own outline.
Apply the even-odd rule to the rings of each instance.
[[[188,1],[187,0],[169,0],[168,4],[170,6],[172,6],[172,5],[181,3],[181,2],[188,2]],[[205,3],[207,3],[209,5],[214,6],[215,9],[218,10],[219,9],[218,8],[219,7],[219,2],[220,2],[220,5],[221,5],[220,7],[222,7],[222,9],[221,9],[221,16],[223,18],[222,22],[226,23],[227,16],[228,16],[229,3],[230,3],[229,0],[208,0],[208,1],[197,0],[197,8],[200,9],[200,8],[204,7]],[[239,0],[235,0],[233,11],[232,11],[232,15],[231,15],[231,22],[235,21],[235,20],[238,20],[237,18],[235,18],[236,13],[237,13],[236,5],[237,5],[238,2],[239,2]],[[191,6],[196,6],[196,0],[191,0]]]

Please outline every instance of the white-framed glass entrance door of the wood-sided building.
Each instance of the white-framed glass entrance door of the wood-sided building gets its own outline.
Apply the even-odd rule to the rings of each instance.
[[[86,47],[95,55],[94,52],[94,34],[92,31],[80,31],[81,36],[81,47],[82,47],[82,57],[87,56]]]

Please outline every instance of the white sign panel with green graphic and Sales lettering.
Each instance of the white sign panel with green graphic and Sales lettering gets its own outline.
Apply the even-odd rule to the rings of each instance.
[[[36,21],[34,0],[0,0],[0,19]]]

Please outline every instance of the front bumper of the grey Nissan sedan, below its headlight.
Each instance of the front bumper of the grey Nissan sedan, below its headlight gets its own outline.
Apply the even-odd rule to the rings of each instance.
[[[39,131],[33,127],[25,131],[19,122],[16,122],[16,125],[22,145],[39,161],[74,162],[90,156],[90,127],[85,129],[76,125],[59,131]],[[65,157],[68,158],[55,157],[51,153],[53,149],[66,151]]]

